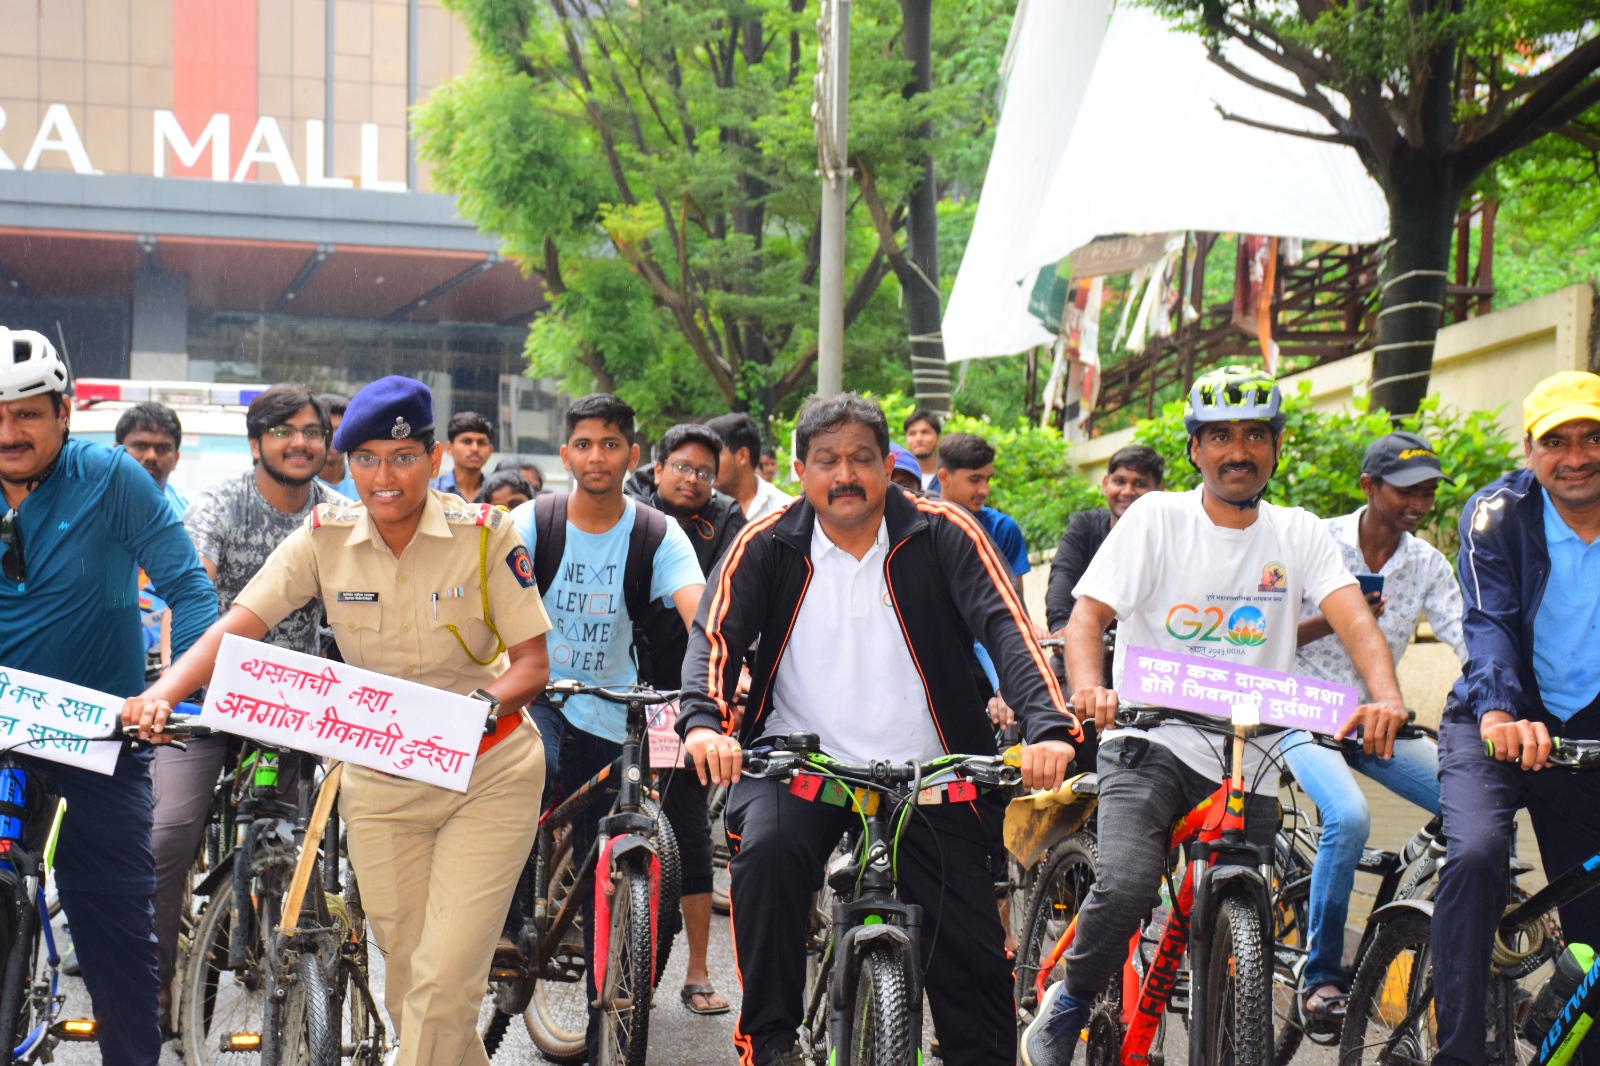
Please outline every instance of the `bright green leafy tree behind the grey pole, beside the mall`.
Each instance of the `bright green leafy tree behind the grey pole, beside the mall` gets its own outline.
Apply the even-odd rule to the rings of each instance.
[[[728,408],[770,415],[810,391],[819,189],[805,0],[446,6],[474,64],[418,109],[421,150],[462,213],[544,285],[531,370],[574,392],[614,391],[646,427]],[[968,72],[960,54],[974,48],[997,54],[1010,22],[994,18],[995,0],[947,6],[968,35],[998,43],[936,32],[939,75]],[[862,184],[845,373],[858,387],[907,379],[890,259],[902,254],[922,160],[966,150],[989,126],[963,110],[970,83],[906,91],[901,34],[898,0],[856,0],[850,123]]]

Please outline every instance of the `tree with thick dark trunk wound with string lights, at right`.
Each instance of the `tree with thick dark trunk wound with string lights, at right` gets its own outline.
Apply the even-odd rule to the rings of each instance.
[[[1427,394],[1462,195],[1550,133],[1581,139],[1600,115],[1594,0],[1147,0],[1202,34],[1213,62],[1322,115],[1296,136],[1355,149],[1389,202],[1373,405]],[[1262,80],[1246,50],[1291,77]],[[1250,115],[1230,115],[1253,122]],[[1269,126],[1275,128],[1275,126]]]

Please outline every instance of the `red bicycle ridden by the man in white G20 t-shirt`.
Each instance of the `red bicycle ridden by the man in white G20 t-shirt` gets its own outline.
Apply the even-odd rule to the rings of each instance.
[[[1270,882],[1272,848],[1245,836],[1243,755],[1246,727],[1171,711],[1118,714],[1117,725],[1152,728],[1179,719],[1232,739],[1227,770],[1218,789],[1178,820],[1170,847],[1187,850],[1178,885],[1163,882],[1168,895],[1133,938],[1122,976],[1096,1000],[1088,1023],[1091,1066],[1152,1061],[1165,1032],[1168,1012],[1189,1026],[1189,1061],[1266,1063],[1272,1055]],[[1162,914],[1162,909],[1166,914]],[[1066,916],[1058,916],[1064,920]],[[1043,1002],[1050,981],[1077,936],[1077,912],[1034,976],[1035,1002]],[[1186,972],[1182,959],[1190,965]],[[1190,981],[1190,973],[1200,981]],[[1158,1055],[1158,1052],[1155,1052]]]

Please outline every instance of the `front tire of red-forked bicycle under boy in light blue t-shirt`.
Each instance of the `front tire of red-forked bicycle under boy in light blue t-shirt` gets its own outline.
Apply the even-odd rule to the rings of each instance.
[[[600,877],[602,874],[595,874]],[[637,858],[618,868],[611,896],[611,940],[600,996],[597,1066],[645,1066],[650,997],[654,992],[650,871]]]

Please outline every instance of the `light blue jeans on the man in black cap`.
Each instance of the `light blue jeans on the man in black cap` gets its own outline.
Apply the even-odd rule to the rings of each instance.
[[[1312,743],[1307,733],[1285,733],[1283,760],[1322,816],[1322,839],[1310,869],[1310,936],[1301,988],[1346,984],[1344,922],[1350,916],[1355,866],[1366,847],[1373,815],[1355,775],[1360,770],[1395,795],[1430,815],[1438,813],[1438,746],[1427,738],[1395,743],[1394,759],[1346,755]]]

